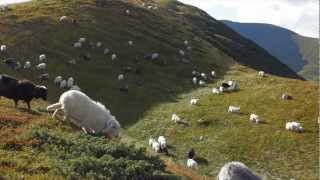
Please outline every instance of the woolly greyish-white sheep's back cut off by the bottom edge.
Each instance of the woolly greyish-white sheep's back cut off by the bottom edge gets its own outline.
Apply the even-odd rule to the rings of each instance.
[[[218,180],[261,180],[246,165],[241,162],[225,164],[217,177]]]

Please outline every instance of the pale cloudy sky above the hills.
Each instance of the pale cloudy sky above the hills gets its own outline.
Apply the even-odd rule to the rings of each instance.
[[[319,37],[319,0],[180,0],[218,20],[268,23]]]

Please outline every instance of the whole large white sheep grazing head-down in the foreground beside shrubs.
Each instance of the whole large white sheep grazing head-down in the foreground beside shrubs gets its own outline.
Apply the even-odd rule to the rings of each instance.
[[[120,123],[110,111],[80,91],[70,90],[63,93],[59,102],[48,106],[47,110],[54,111],[52,118],[62,111],[63,121],[70,120],[84,132],[90,130],[110,138],[119,136]]]

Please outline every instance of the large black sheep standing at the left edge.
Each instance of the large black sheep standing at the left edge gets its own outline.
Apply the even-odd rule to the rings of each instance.
[[[15,107],[22,100],[27,103],[28,109],[31,109],[31,100],[34,98],[47,100],[47,93],[48,89],[45,86],[35,85],[29,80],[17,80],[5,74],[0,75],[0,97],[12,99]]]

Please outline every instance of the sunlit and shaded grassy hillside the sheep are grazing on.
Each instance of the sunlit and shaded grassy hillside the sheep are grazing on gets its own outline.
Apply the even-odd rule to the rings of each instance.
[[[14,134],[13,137],[22,142],[17,151],[17,143],[13,143],[14,148],[6,149],[7,139],[1,141],[3,158],[0,165],[3,168],[0,169],[3,174],[64,178],[77,172],[73,172],[72,167],[79,167],[80,171],[84,168],[90,177],[96,177],[90,174],[90,168],[98,171],[95,173],[104,174],[103,168],[113,167],[114,164],[108,162],[117,157],[111,155],[100,159],[92,154],[97,146],[106,154],[110,149],[124,149],[127,154],[123,155],[121,151],[123,161],[117,164],[124,167],[118,172],[120,174],[141,172],[146,168],[146,173],[152,171],[155,176],[178,179],[206,176],[211,179],[222,164],[241,160],[269,179],[317,177],[316,84],[284,78],[300,79],[265,50],[203,11],[172,0],[148,1],[159,7],[148,10],[141,7],[142,2],[110,1],[104,7],[97,7],[93,0],[35,0],[12,6],[8,12],[0,12],[0,44],[8,45],[8,53],[1,59],[14,57],[35,65],[39,54],[45,53],[51,78],[48,82],[40,82],[37,78],[40,72],[35,68],[18,72],[4,64],[0,64],[0,72],[47,85],[48,103],[56,102],[62,93],[52,79],[57,75],[73,76],[85,93],[103,102],[117,117],[123,127],[121,141],[124,143],[83,135],[69,124],[50,120],[45,112],[38,114],[48,103],[33,102],[37,111],[30,115],[30,112],[12,108],[11,101],[1,99],[0,105],[5,108],[1,108],[0,116],[4,116],[4,121],[10,125],[2,126],[5,130],[3,137]],[[126,9],[131,10],[130,15],[125,14]],[[60,23],[58,19],[62,15],[75,18],[77,24]],[[86,37],[93,43],[101,41],[103,47],[91,48],[86,44],[75,49],[73,43],[79,37]],[[129,40],[134,42],[132,47],[127,45]],[[184,40],[190,41],[191,51],[186,50]],[[112,61],[111,54],[104,55],[104,48],[116,53],[118,59]],[[179,49],[185,50],[184,58],[179,56]],[[153,52],[160,53],[159,60],[144,59],[146,54]],[[91,54],[90,61],[83,59],[86,53]],[[71,59],[77,61],[76,65],[68,63]],[[141,73],[130,72],[125,81],[120,82],[117,76],[125,66],[140,69]],[[207,74],[215,70],[218,77],[210,78],[208,87],[198,88],[191,82],[194,69]],[[257,70],[273,75],[260,80],[256,77]],[[241,90],[213,96],[210,88],[223,79],[239,81]],[[129,86],[128,93],[119,91],[124,85]],[[291,93],[294,100],[280,101],[284,92]],[[190,107],[191,97],[199,97],[200,105]],[[227,115],[229,105],[241,105],[243,114]],[[172,124],[170,116],[173,112],[186,118],[191,126]],[[266,123],[250,124],[248,113],[251,112],[262,116]],[[6,121],[7,116],[9,121]],[[12,123],[16,124],[25,117],[29,118],[28,123],[11,130]],[[198,125],[200,118],[205,122]],[[285,122],[292,119],[301,121],[306,133],[284,131]],[[151,158],[149,148],[143,150],[149,136],[160,134],[168,137],[172,155],[161,156],[162,161]],[[205,140],[198,142],[196,139],[200,136]],[[87,144],[89,150],[81,144]],[[130,148],[131,144],[136,148]],[[200,167],[195,171],[184,168],[186,152],[191,147],[196,149],[200,158],[197,159]],[[84,151],[85,158],[77,159],[79,151]],[[13,165],[10,164],[12,154],[17,155]],[[130,161],[132,157],[134,162]],[[137,158],[142,162],[137,162]],[[34,164],[28,168],[30,161]],[[41,163],[37,165],[36,162]],[[130,163],[134,167],[126,168],[125,164]],[[163,163],[171,173],[165,171]],[[114,175],[113,171],[108,173]]]

